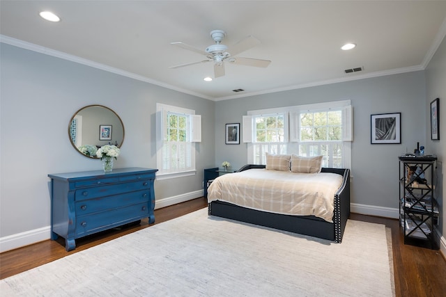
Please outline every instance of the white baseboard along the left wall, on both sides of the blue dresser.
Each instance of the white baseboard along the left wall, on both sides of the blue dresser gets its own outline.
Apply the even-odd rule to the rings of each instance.
[[[199,197],[203,197],[203,190],[185,193],[183,195],[177,195],[174,197],[163,198],[160,200],[156,200],[155,209],[168,207],[170,205],[185,202]],[[50,238],[51,226],[41,227],[38,229],[29,230],[9,236],[3,236],[0,238],[0,252],[14,250],[15,248],[21,248],[22,246],[29,246],[30,244],[38,243],[39,241],[44,241]]]

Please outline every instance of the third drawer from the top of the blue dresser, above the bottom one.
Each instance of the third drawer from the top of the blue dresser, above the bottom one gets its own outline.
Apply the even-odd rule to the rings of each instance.
[[[149,197],[149,191],[137,191],[121,195],[76,201],[76,216],[84,216],[85,214],[114,209],[116,207],[126,207],[132,204],[147,203]]]

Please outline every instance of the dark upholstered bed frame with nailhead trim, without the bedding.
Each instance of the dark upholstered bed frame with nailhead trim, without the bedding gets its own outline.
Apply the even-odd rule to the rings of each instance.
[[[240,168],[238,172],[252,168],[265,168],[265,166],[249,164]],[[341,243],[347,219],[348,216],[350,216],[350,170],[341,168],[322,168],[321,172],[337,173],[343,177],[341,187],[334,194],[333,223],[329,223],[316,216],[274,214],[266,211],[240,207],[236,204],[219,200],[208,203],[208,214]]]

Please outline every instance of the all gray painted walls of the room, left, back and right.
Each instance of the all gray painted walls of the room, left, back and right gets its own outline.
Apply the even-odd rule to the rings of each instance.
[[[197,175],[156,181],[157,200],[200,191],[203,168],[219,166],[222,161],[231,162],[233,168],[247,163],[245,143],[224,144],[224,125],[241,123],[242,116],[254,109],[351,99],[352,202],[378,213],[398,208],[397,156],[412,152],[417,142],[426,146],[426,154],[435,153],[440,161],[445,155],[446,121],[440,121],[443,140],[431,141],[428,116],[429,103],[436,97],[443,100],[446,94],[444,40],[426,71],[220,102],[11,45],[0,46],[0,239],[49,226],[47,174],[101,169],[100,161],[76,152],[68,139],[68,122],[73,113],[90,104],[108,106],[123,120],[125,141],[116,161],[118,168],[156,168],[157,102],[195,109],[201,114]],[[440,114],[446,115],[443,101]],[[401,145],[371,145],[370,115],[393,112],[401,112]],[[438,179],[438,194],[443,197],[443,174]],[[172,182],[175,186],[169,186]]]

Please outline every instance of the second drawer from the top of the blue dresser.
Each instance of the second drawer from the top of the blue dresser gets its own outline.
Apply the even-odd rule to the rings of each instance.
[[[140,182],[125,182],[122,184],[110,184],[105,186],[94,186],[90,188],[82,188],[75,191],[75,200],[86,200],[92,198],[100,198],[109,195],[128,193],[132,191],[148,190],[151,183],[148,180]]]

